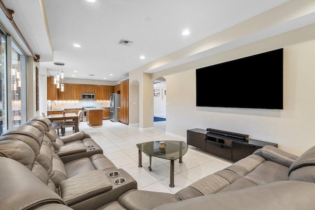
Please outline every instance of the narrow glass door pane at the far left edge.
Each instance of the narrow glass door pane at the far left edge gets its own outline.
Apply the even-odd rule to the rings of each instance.
[[[3,132],[6,131],[7,128],[7,120],[6,120],[6,111],[7,110],[7,103],[6,103],[6,36],[2,34],[1,35],[1,63],[0,63],[0,135],[3,134]]]

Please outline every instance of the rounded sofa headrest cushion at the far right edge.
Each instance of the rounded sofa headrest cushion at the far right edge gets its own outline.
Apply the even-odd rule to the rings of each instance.
[[[289,168],[289,175],[296,169],[306,167],[306,166],[315,166],[315,146],[308,149],[300,157],[292,163]]]

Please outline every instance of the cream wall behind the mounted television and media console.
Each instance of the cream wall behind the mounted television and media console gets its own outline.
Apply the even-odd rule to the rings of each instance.
[[[315,145],[314,55],[315,40],[284,48],[283,110],[196,107],[195,69],[164,76],[166,132],[186,137],[193,128],[226,130],[300,155]]]

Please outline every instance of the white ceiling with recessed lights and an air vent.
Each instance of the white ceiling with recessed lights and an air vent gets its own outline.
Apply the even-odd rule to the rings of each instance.
[[[106,77],[105,81],[119,81],[128,77],[130,70],[288,0],[2,1],[7,8],[15,11],[14,21],[34,53],[41,56],[40,66],[47,68],[50,75],[56,73],[53,63],[62,62],[66,78],[104,80],[103,77]],[[44,3],[52,48],[40,2]],[[150,17],[151,21],[145,21],[146,17]],[[189,29],[189,35],[182,35],[185,29]],[[118,44],[121,39],[133,43],[130,46]],[[74,43],[81,47],[73,47]],[[141,55],[146,58],[141,60]],[[154,71],[198,58],[190,56]]]

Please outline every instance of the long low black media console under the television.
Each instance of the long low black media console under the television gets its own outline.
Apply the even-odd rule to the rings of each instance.
[[[233,162],[241,160],[256,149],[277,143],[249,139],[249,135],[208,128],[187,130],[187,144]]]

